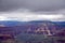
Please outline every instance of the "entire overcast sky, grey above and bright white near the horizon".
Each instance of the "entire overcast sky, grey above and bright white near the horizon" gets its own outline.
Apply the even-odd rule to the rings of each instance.
[[[0,0],[0,16],[23,20],[65,20],[64,14],[65,0]]]

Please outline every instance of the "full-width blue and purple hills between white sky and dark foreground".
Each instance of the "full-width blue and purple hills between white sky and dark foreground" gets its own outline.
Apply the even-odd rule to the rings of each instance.
[[[61,25],[62,24],[62,25]],[[53,35],[65,28],[65,23],[34,20],[34,22],[0,22],[0,33],[18,35],[21,33]]]

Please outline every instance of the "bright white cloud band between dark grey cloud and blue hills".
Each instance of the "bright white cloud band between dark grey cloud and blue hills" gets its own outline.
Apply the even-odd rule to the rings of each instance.
[[[0,16],[4,16],[5,19],[30,22],[30,20],[52,20],[52,22],[65,22],[65,15],[63,14],[37,14],[37,13],[3,13]]]

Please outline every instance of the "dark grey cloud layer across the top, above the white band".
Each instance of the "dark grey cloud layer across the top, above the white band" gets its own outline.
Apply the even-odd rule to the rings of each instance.
[[[34,12],[65,9],[65,0],[0,0],[0,11],[28,9]]]

